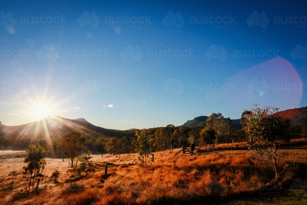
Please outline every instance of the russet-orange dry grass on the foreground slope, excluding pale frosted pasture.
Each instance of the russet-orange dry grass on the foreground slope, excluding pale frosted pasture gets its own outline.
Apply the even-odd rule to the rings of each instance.
[[[155,162],[147,168],[139,165],[137,154],[100,156],[94,158],[95,170],[91,177],[80,179],[75,186],[65,183],[74,179],[66,161],[67,166],[57,168],[59,183],[53,183],[50,178],[49,173],[54,170],[46,168],[40,195],[25,193],[28,178],[18,177],[13,190],[9,188],[11,181],[5,180],[2,186],[5,189],[0,191],[0,204],[173,204],[176,201],[252,196],[274,178],[274,173],[269,166],[259,163],[252,151],[226,151],[244,146],[244,143],[221,144],[218,148],[224,151],[196,156],[179,154],[174,157],[179,149],[155,152]],[[306,148],[306,145],[283,148],[282,152],[287,153],[283,162],[306,164]],[[61,160],[52,162],[54,164],[48,166],[55,167]],[[107,177],[104,176],[105,162],[109,163]],[[293,167],[283,173],[283,187],[289,187],[297,177],[297,171],[299,168]],[[71,191],[72,187],[82,184],[84,188]]]

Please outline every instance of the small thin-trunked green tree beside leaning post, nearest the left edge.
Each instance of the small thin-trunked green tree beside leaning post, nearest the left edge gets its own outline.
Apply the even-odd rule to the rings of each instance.
[[[46,149],[41,147],[41,145],[34,145],[30,144],[29,148],[26,150],[27,157],[24,160],[24,163],[27,163],[22,169],[24,175],[30,175],[30,182],[29,182],[29,190],[31,186],[31,178],[32,175],[38,174],[41,170],[45,168],[46,165]],[[33,190],[33,183],[34,183],[34,176],[32,182],[32,190]]]

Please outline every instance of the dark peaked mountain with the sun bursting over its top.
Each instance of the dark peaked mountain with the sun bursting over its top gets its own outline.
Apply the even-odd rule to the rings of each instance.
[[[40,136],[45,136],[44,139],[49,138],[52,141],[53,138],[63,136],[72,130],[84,132],[88,138],[94,141],[99,137],[134,137],[134,129],[124,131],[106,129],[95,126],[84,118],[71,120],[58,115],[51,115],[36,122],[23,125],[6,126],[0,124],[0,144],[5,144],[6,146],[10,144],[13,147],[27,147],[33,139]],[[48,140],[46,143],[48,143]]]

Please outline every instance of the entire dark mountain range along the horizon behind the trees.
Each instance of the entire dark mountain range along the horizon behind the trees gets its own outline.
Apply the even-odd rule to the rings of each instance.
[[[278,113],[283,117],[289,118],[292,125],[306,126],[306,110],[307,107],[293,108],[288,110],[279,111]],[[179,127],[198,127],[202,128],[205,126],[208,116],[198,116],[193,120],[188,120]],[[240,119],[231,120],[231,124],[235,129],[242,128]],[[158,128],[149,128],[153,132]],[[41,120],[30,122],[23,125],[7,126],[0,122],[0,142],[1,144],[11,144],[14,147],[26,147],[33,139],[37,139],[40,136],[45,138],[53,139],[63,136],[67,132],[77,130],[84,132],[87,138],[96,140],[99,137],[103,138],[127,138],[135,137],[135,128],[129,130],[116,130],[107,129],[99,126],[95,126],[88,122],[84,118],[77,119],[66,119],[59,115],[50,115]],[[48,143],[48,142],[46,142]]]

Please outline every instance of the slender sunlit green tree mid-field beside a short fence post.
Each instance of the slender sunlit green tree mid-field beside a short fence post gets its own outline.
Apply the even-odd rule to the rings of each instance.
[[[135,136],[137,136],[137,152],[142,157],[142,166],[146,167],[147,158],[151,152],[154,151],[154,138],[150,134],[148,129],[141,129],[135,131]]]

